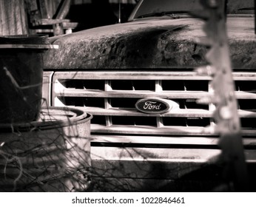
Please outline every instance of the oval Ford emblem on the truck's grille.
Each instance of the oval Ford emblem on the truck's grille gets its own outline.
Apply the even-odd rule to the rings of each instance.
[[[161,98],[143,98],[135,104],[136,109],[148,114],[162,114],[170,109],[177,109],[179,106],[175,101]]]

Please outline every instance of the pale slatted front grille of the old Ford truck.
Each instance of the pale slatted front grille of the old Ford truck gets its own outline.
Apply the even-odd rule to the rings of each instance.
[[[243,136],[252,136],[256,132],[256,72],[233,74]],[[144,141],[148,136],[156,143],[163,140],[170,143],[166,139],[170,136],[180,138],[181,142],[186,137],[213,139],[216,135],[208,126],[214,125],[214,106],[197,103],[198,99],[212,95],[210,80],[211,77],[197,75],[192,70],[55,72],[52,105],[81,107],[91,113],[95,142],[114,139],[126,143],[135,141],[134,136],[141,136]],[[164,114],[146,114],[135,109],[138,100],[152,97],[176,101],[180,109]],[[216,141],[209,139],[202,143]]]

